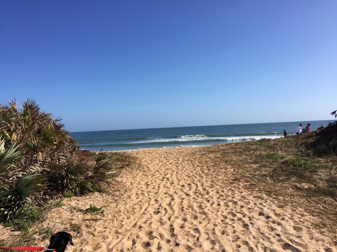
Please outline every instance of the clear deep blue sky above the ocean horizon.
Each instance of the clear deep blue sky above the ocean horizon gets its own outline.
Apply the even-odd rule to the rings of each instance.
[[[337,1],[1,1],[0,102],[69,131],[330,120]]]

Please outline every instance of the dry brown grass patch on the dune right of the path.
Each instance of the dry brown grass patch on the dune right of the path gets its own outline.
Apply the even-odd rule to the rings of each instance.
[[[277,198],[285,205],[300,207],[314,217],[312,226],[336,239],[337,157],[336,153],[320,152],[322,137],[328,146],[326,135],[309,132],[207,146],[198,155],[200,160],[220,167],[228,185],[240,184],[246,190]]]

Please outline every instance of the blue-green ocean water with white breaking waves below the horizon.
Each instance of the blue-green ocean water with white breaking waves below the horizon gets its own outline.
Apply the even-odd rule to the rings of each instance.
[[[333,120],[330,120],[333,121]],[[297,126],[311,123],[310,131],[329,121],[232,124],[175,128],[70,132],[79,147],[91,151],[118,151],[140,148],[218,145],[281,137],[286,130],[296,134]]]

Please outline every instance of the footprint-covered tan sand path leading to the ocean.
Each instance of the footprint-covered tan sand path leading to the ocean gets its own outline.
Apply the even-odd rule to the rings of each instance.
[[[337,251],[336,241],[310,227],[308,213],[229,185],[235,169],[214,165],[198,154],[202,148],[128,151],[137,162],[108,192],[66,198],[35,228],[71,233],[67,252]],[[104,212],[75,210],[90,204]],[[35,236],[37,246],[48,246]]]

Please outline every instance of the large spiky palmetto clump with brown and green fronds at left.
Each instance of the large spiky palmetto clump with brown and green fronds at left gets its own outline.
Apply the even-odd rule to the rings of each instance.
[[[61,119],[40,111],[32,99],[0,104],[0,221],[9,221],[26,202],[41,204],[66,191],[85,194],[109,177],[105,154],[94,162],[80,151]]]

